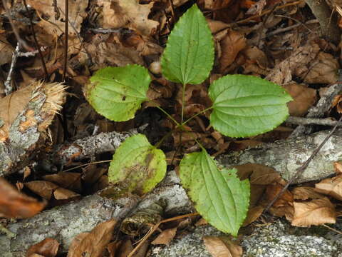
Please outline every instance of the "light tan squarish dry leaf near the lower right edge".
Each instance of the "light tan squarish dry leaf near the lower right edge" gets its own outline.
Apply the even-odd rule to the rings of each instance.
[[[322,225],[336,223],[335,206],[324,197],[305,203],[294,202],[294,218],[292,226]]]

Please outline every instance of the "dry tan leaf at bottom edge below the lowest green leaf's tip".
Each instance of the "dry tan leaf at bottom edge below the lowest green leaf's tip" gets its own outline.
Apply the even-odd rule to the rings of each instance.
[[[218,236],[204,236],[205,247],[213,257],[240,257],[242,247],[227,238]]]

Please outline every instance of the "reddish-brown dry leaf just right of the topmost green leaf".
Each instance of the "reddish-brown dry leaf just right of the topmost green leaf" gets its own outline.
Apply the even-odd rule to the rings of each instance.
[[[237,31],[226,30],[217,34],[217,41],[219,41],[219,71],[224,72],[227,67],[232,64],[239,54],[246,46],[246,39],[243,34]]]

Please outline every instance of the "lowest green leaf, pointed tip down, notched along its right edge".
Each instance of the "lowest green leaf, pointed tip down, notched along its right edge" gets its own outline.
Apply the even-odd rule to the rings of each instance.
[[[180,162],[180,179],[196,210],[212,226],[237,236],[249,206],[249,181],[236,169],[219,170],[207,151],[190,153]]]

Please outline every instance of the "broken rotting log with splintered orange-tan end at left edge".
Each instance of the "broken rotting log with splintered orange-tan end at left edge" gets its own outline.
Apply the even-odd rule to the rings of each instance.
[[[28,95],[25,106],[21,91],[1,99],[0,106],[0,176],[23,168],[31,154],[48,138],[46,129],[66,99],[66,86],[61,83],[33,83],[22,89]],[[15,101],[19,94],[18,101]],[[15,106],[15,108],[13,108]],[[18,114],[12,114],[17,109]]]

